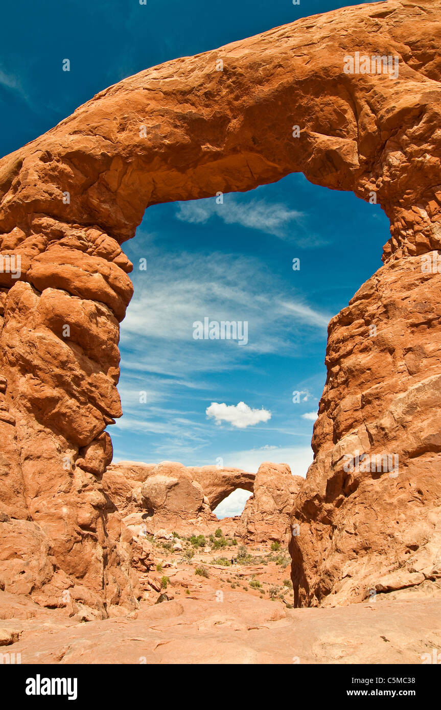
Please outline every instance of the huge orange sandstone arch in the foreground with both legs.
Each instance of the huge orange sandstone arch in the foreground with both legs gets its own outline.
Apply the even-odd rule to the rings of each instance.
[[[385,266],[330,323],[316,458],[295,510],[298,603],[336,591],[338,601],[342,585],[345,599],[358,599],[371,554],[393,557],[383,572],[436,577],[440,275],[421,273],[419,255],[441,246],[440,16],[439,0],[391,0],[168,62],[0,161],[1,253],[20,256],[22,269],[18,280],[1,273],[1,506],[26,523],[24,559],[41,545],[53,553],[50,569],[25,569],[28,591],[57,596],[70,585],[107,611],[133,602],[134,545],[99,484],[111,459],[104,430],[121,415],[118,322],[131,264],[120,244],[148,205],[295,171],[365,200],[375,192],[391,219]],[[344,74],[344,55],[357,50],[398,55],[398,79]],[[373,321],[377,346],[364,337]],[[364,373],[357,357],[366,353]],[[378,452],[389,442],[405,472],[395,488],[383,479],[375,489],[388,501],[381,542],[372,481],[347,479],[341,459],[347,447]],[[354,501],[366,510],[361,531],[347,530]],[[398,537],[397,511],[418,518]],[[7,547],[13,524],[4,525]]]

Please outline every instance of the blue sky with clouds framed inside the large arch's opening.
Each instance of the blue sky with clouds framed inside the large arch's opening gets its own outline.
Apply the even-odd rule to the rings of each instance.
[[[112,427],[114,458],[202,465],[219,457],[251,470],[287,461],[305,475],[327,323],[381,266],[387,238],[378,205],[301,174],[225,195],[224,204],[149,208],[125,245],[135,293],[121,324],[124,417]],[[193,339],[204,317],[247,321],[248,343]],[[271,418],[253,424],[236,411],[227,422],[219,407],[207,418],[212,403],[239,402]]]

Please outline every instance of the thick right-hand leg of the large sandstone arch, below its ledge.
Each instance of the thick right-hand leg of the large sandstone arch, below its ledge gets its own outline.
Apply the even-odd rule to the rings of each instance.
[[[330,322],[293,518],[300,605],[441,594],[440,287],[418,256],[391,261]]]

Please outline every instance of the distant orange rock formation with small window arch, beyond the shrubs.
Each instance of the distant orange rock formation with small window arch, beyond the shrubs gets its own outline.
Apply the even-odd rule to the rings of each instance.
[[[257,474],[217,466],[183,466],[175,461],[141,464],[120,461],[108,466],[102,484],[124,523],[136,537],[158,531],[213,533],[222,528],[244,542],[290,540],[290,513],[302,484],[288,464],[259,466]],[[237,488],[253,495],[240,516],[219,520],[215,506]],[[211,499],[211,500],[210,500]]]

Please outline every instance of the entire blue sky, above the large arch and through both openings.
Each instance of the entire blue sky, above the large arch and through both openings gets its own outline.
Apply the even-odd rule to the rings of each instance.
[[[346,4],[9,4],[0,48],[1,154],[146,67]],[[70,72],[62,72],[65,58]],[[303,175],[225,195],[224,204],[149,208],[136,239],[124,245],[135,295],[121,325],[124,416],[110,429],[114,460],[222,459],[249,470],[287,461],[305,475],[325,383],[327,322],[381,266],[388,236],[380,207],[310,185]],[[192,324],[204,317],[248,322],[249,342],[193,339]],[[221,514],[238,512],[243,500],[236,493]]]

